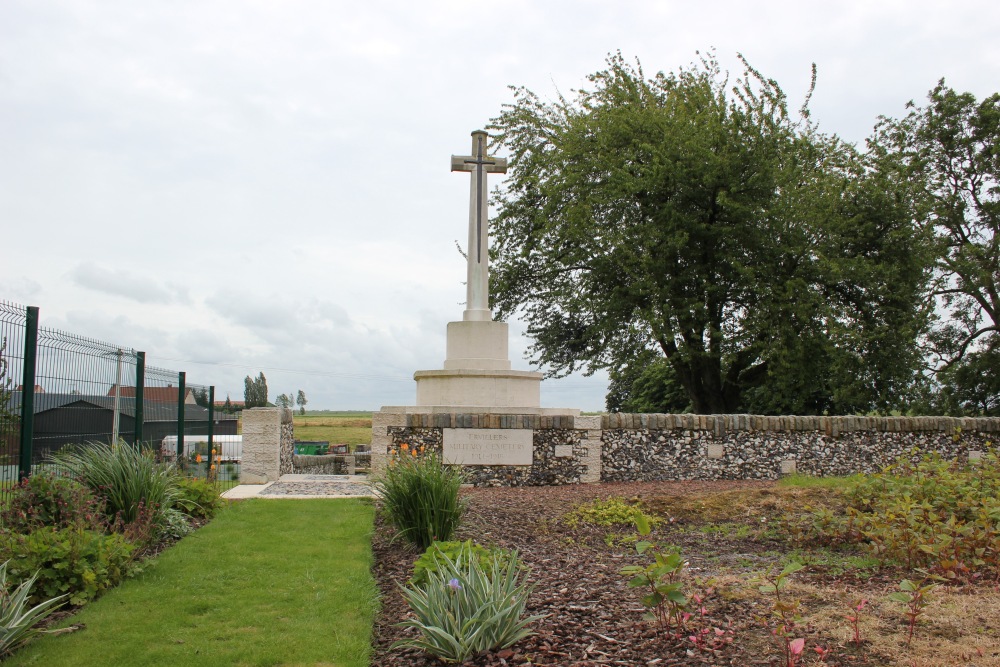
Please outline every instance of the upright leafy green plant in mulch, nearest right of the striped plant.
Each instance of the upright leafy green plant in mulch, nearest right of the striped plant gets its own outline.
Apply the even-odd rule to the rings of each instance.
[[[640,513],[635,517],[635,526],[643,537],[651,532],[645,514]],[[645,540],[637,542],[635,550],[640,555],[652,553],[653,562],[649,565],[629,565],[621,569],[622,574],[632,577],[628,582],[629,588],[647,590],[642,596],[642,604],[652,610],[648,614],[650,620],[655,620],[664,630],[668,630],[671,625],[680,630],[684,626],[683,614],[688,604],[681,581],[687,561],[676,551]]]

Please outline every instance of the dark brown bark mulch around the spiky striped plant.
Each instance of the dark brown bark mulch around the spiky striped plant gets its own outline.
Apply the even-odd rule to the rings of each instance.
[[[705,494],[738,488],[760,488],[768,482],[654,482],[573,485],[562,487],[476,488],[463,490],[469,509],[457,539],[516,549],[531,570],[534,589],[528,613],[547,614],[535,623],[535,635],[510,649],[478,656],[467,665],[777,665],[777,647],[760,620],[769,608],[739,596],[706,600],[713,627],[733,630],[732,643],[715,652],[700,651],[686,637],[664,636],[643,620],[639,595],[620,574],[625,565],[643,562],[628,544],[605,542],[606,528],[568,528],[559,519],[576,505],[595,498],[620,496],[644,501],[662,496]],[[381,520],[380,520],[381,521]],[[624,528],[623,528],[624,530]],[[409,630],[395,627],[408,613],[397,588],[412,573],[419,556],[391,530],[376,526],[373,538],[375,576],[382,591],[382,610],[375,625],[372,664],[379,667],[423,667],[443,663],[425,653],[390,645]],[[673,538],[674,536],[672,536]],[[673,543],[691,563],[691,576],[713,574],[713,556],[754,559],[778,544],[732,536],[678,531]],[[772,557],[773,557],[773,551]],[[748,576],[749,578],[749,576]],[[685,633],[687,634],[687,633]],[[752,639],[751,639],[752,635]],[[843,655],[843,654],[842,654]],[[863,656],[843,663],[879,664]]]

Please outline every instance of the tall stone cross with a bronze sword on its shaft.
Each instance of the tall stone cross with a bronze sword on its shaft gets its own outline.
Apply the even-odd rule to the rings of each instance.
[[[486,155],[488,137],[472,133],[472,155],[452,155],[452,171],[472,172],[469,194],[469,271],[464,320],[492,321],[490,312],[489,211],[486,174],[506,174],[507,160]]]

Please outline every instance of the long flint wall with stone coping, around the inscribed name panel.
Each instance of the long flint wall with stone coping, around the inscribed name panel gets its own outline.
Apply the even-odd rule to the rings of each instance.
[[[445,428],[532,430],[534,463],[467,465],[476,486],[872,473],[932,452],[975,459],[1000,439],[1000,418],[377,412],[372,471],[403,443],[440,455]]]

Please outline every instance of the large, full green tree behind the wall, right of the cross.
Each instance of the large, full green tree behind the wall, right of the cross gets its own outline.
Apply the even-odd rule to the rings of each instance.
[[[926,257],[895,181],[749,65],[731,86],[714,57],[646,77],[619,54],[589,80],[515,89],[491,126],[510,152],[492,292],[533,360],[638,378],[662,359],[661,393],[703,413],[898,402]]]

